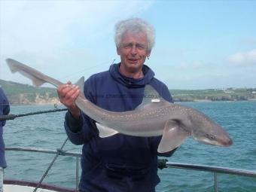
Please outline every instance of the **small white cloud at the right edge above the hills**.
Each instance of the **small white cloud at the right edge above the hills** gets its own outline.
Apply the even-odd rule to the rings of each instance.
[[[256,65],[256,49],[247,52],[235,53],[227,57],[227,61],[231,64],[248,66]]]

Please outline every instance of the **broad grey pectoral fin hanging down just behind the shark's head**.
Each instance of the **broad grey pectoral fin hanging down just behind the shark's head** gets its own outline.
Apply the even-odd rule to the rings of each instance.
[[[190,133],[183,130],[175,120],[168,120],[164,126],[163,136],[158,145],[158,153],[166,153],[181,145]]]

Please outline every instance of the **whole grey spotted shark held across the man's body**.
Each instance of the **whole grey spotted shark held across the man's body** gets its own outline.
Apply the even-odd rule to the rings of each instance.
[[[44,75],[30,66],[14,59],[6,59],[11,72],[20,72],[35,86],[44,83],[58,87],[62,82]],[[209,145],[230,146],[233,144],[228,133],[206,114],[184,105],[167,102],[154,87],[145,86],[142,103],[132,111],[108,111],[84,97],[84,77],[77,82],[81,93],[75,104],[84,114],[96,121],[99,136],[162,136],[157,151],[165,153],[178,148],[189,136]]]

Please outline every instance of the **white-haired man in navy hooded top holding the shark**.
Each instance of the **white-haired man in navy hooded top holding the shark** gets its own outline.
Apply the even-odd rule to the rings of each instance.
[[[142,102],[145,85],[151,84],[160,96],[172,102],[166,85],[154,78],[154,72],[144,65],[154,46],[154,28],[141,19],[123,20],[116,25],[114,40],[120,63],[84,83],[87,99],[109,111],[130,111]],[[155,191],[160,182],[157,147],[161,137],[116,134],[99,138],[95,122],[75,105],[80,93],[78,86],[68,82],[57,91],[60,102],[69,108],[66,133],[75,145],[84,145],[79,190]],[[160,155],[169,157],[173,152]]]

